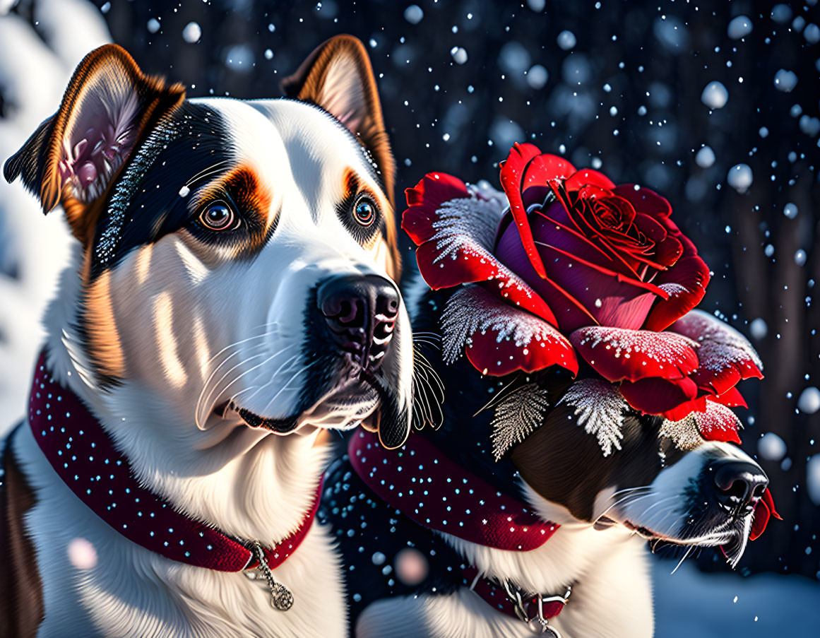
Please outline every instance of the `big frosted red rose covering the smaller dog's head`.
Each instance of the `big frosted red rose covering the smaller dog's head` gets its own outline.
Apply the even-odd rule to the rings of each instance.
[[[512,148],[501,184],[429,173],[406,191],[402,227],[427,284],[469,284],[444,311],[445,357],[466,345],[485,374],[575,374],[581,355],[636,410],[699,412],[701,431],[736,439],[724,406],[745,405],[734,386],[762,364],[743,335],[692,311],[708,268],[667,200],[532,144]]]

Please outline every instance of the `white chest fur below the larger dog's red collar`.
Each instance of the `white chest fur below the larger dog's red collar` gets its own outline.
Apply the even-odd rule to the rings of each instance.
[[[280,612],[264,581],[175,563],[126,540],[62,483],[27,427],[15,438],[37,494],[26,526],[43,584],[41,638],[347,634],[339,557],[321,526],[274,570],[294,593]]]

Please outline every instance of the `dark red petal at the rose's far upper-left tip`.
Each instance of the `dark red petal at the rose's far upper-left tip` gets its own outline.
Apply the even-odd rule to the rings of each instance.
[[[470,197],[464,182],[446,173],[427,173],[404,194],[409,208],[402,215],[402,228],[417,245],[435,235],[433,224],[439,219],[441,204]]]

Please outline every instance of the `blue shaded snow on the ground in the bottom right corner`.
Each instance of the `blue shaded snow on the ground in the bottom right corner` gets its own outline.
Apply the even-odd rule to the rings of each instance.
[[[657,638],[820,635],[820,583],[804,576],[702,573],[684,563],[653,567]]]

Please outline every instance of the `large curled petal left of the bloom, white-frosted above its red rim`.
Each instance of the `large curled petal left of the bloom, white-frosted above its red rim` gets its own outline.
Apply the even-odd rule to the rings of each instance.
[[[488,190],[468,189],[469,197],[450,199],[436,209],[432,234],[416,251],[421,276],[432,289],[494,281],[499,296],[557,324],[544,299],[492,253],[504,203],[503,196]]]

